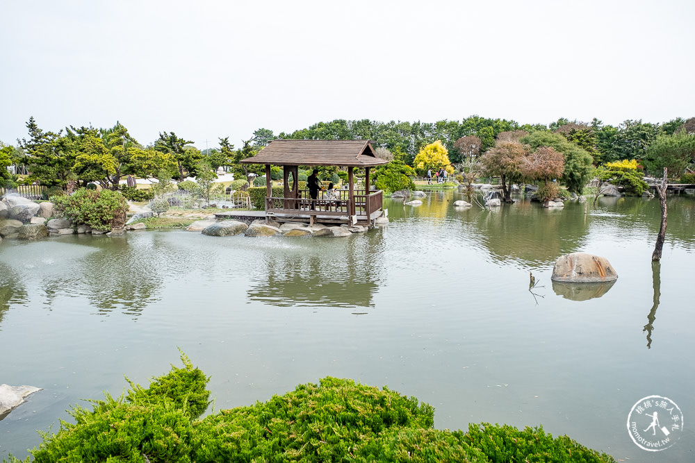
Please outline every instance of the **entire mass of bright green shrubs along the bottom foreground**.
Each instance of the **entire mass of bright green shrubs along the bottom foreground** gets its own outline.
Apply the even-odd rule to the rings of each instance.
[[[35,462],[614,462],[543,428],[489,423],[435,430],[434,409],[388,387],[324,378],[265,403],[206,410],[209,380],[181,353],[145,389],[73,407],[31,455]],[[127,379],[127,378],[126,378]],[[19,462],[10,457],[11,462]],[[27,457],[26,462],[31,461]]]

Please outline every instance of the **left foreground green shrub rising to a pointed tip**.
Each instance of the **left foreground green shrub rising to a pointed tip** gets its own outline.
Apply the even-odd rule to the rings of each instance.
[[[57,434],[44,434],[35,462],[186,462],[196,423],[208,405],[208,378],[181,353],[183,368],[154,378],[149,389],[130,382],[127,396],[90,401],[93,410],[73,407],[75,423],[60,421]],[[16,460],[15,460],[16,461]],[[28,459],[27,459],[28,461]]]

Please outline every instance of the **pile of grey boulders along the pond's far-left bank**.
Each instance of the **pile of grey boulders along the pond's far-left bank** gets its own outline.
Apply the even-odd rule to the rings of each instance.
[[[145,224],[114,228],[110,232],[92,230],[86,225],[75,226],[72,220],[56,217],[53,203],[35,203],[17,194],[8,194],[0,200],[0,241],[6,239],[40,239],[48,235],[122,235],[125,230],[142,230]]]

